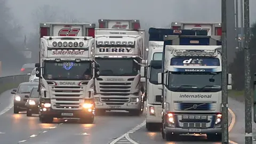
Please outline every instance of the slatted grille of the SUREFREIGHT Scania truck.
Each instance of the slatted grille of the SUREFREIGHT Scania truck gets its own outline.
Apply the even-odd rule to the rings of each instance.
[[[59,110],[82,109],[83,93],[84,87],[82,86],[53,86],[52,108]]]

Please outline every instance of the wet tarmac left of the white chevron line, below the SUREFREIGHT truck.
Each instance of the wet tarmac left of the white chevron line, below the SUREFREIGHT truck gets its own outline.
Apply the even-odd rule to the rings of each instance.
[[[84,143],[107,144],[142,123],[145,116],[128,116],[127,113],[108,113],[97,116],[94,124],[54,119],[52,124],[41,124],[38,115],[27,117],[13,114],[13,95],[6,91],[0,95],[0,143]]]

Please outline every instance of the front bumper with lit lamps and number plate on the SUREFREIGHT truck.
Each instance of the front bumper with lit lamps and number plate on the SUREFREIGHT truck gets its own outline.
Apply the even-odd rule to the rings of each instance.
[[[39,117],[55,117],[55,118],[84,118],[93,117],[94,109],[88,111],[82,110],[53,110],[52,108],[39,108]]]

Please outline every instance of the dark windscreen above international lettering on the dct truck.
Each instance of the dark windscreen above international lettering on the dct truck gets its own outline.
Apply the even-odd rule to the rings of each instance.
[[[217,92],[221,90],[221,72],[169,72],[167,85],[175,92]]]

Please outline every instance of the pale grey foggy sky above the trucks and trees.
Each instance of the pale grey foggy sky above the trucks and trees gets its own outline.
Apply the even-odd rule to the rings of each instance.
[[[234,0],[227,0],[234,1]],[[10,9],[24,33],[33,33],[32,15],[40,5],[54,6],[58,14],[75,15],[82,22],[98,22],[98,19],[139,19],[148,26],[163,27],[173,21],[220,22],[221,0],[8,0]],[[111,2],[111,3],[110,3]],[[255,0],[251,0],[251,23],[256,20]],[[34,23],[33,23],[34,22]]]

